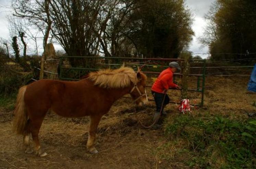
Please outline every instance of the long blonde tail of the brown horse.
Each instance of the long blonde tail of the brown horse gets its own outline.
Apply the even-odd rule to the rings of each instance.
[[[13,121],[13,130],[17,134],[24,134],[25,126],[27,123],[27,111],[24,102],[24,94],[26,92],[27,86],[23,86],[20,88],[19,93],[17,95],[16,106],[14,110],[14,121]]]

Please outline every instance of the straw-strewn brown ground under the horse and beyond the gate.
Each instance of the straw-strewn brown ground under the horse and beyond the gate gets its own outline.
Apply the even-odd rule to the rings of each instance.
[[[246,78],[208,77],[206,79],[205,106],[193,109],[191,116],[197,113],[223,114],[230,118],[248,118],[247,112],[256,112],[253,102],[255,95],[246,94]],[[191,80],[195,88],[196,79]],[[150,89],[147,90],[150,98]],[[172,100],[179,98],[180,91],[169,91]],[[200,99],[191,93],[193,99]],[[192,100],[193,100],[192,99]],[[166,110],[170,112],[168,120],[182,116],[178,105],[170,104]],[[42,147],[49,154],[45,158],[34,154],[24,154],[21,145],[22,137],[11,130],[12,112],[0,112],[1,117],[9,119],[0,123],[0,168],[176,168],[187,167],[184,163],[190,156],[177,157],[175,154],[183,150],[185,142],[169,142],[162,129],[144,129],[138,121],[150,124],[155,111],[154,102],[134,112],[131,99],[122,98],[111,108],[100,121],[96,145],[99,154],[92,155],[86,151],[88,138],[88,117],[66,119],[55,114],[48,114],[40,131]],[[169,143],[166,146],[167,142]],[[157,150],[161,150],[158,153]],[[221,159],[218,159],[221,160]],[[221,162],[218,162],[221,164]],[[162,167],[161,167],[162,166]]]

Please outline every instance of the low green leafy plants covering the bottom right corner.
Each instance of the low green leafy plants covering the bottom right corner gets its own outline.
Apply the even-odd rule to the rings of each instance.
[[[174,140],[187,141],[186,149],[194,156],[187,162],[190,167],[207,168],[217,158],[225,159],[222,168],[256,167],[256,120],[182,115],[167,125],[165,134]],[[212,155],[214,152],[218,155]]]

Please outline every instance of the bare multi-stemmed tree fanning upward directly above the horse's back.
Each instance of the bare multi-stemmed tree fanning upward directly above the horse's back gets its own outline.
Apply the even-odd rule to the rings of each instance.
[[[101,35],[107,28],[118,0],[62,1],[52,0],[52,31],[69,56],[95,56]],[[107,49],[104,50],[107,52]],[[78,63],[75,63],[78,61]],[[79,60],[71,64],[83,64]],[[84,66],[90,65],[85,63]]]

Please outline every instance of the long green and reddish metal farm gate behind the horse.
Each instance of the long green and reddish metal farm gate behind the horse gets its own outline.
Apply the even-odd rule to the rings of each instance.
[[[69,64],[69,59],[80,59],[83,61],[90,61],[86,67],[72,67]],[[179,62],[181,69],[183,68],[184,59],[167,59],[167,58],[121,58],[121,57],[79,57],[79,56],[62,56],[60,57],[59,65],[59,79],[60,80],[80,80],[84,75],[92,71],[97,71],[104,68],[119,68],[121,65],[132,67],[134,71],[137,71],[138,67],[142,68],[142,72],[153,80],[160,74],[162,70],[169,67],[168,64],[171,61]],[[88,62],[87,62],[88,63]],[[190,68],[195,68],[194,72],[188,74],[188,76],[196,78],[196,87],[188,88],[187,91],[200,93],[200,104],[196,106],[203,106],[204,104],[204,90],[205,90],[205,70],[206,60],[190,60]],[[194,67],[193,67],[194,66]],[[182,72],[182,70],[181,70]],[[191,71],[190,71],[191,72]],[[177,76],[183,76],[182,73],[174,73],[173,81]],[[151,88],[151,86],[146,86]],[[171,90],[181,90],[172,89]],[[154,101],[149,99],[149,101]],[[175,103],[175,102],[170,102]]]

